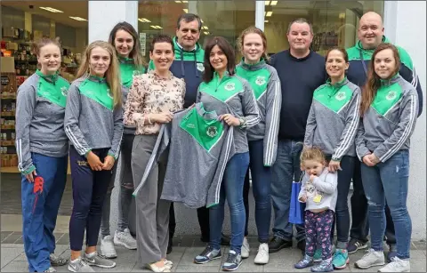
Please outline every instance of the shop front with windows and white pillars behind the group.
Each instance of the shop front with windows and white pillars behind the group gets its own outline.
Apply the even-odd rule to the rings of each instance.
[[[383,16],[385,35],[391,42],[404,47],[411,55],[423,86],[424,99],[426,97],[426,4],[423,1],[2,1],[1,5],[2,51],[14,56],[14,65],[8,73],[15,73],[18,79],[26,76],[35,65],[31,56],[27,56],[28,42],[42,35],[60,37],[67,56],[65,69],[72,74],[85,44],[107,40],[110,29],[122,20],[138,29],[146,60],[153,36],[159,33],[174,36],[176,20],[183,12],[197,13],[203,20],[199,41],[202,45],[209,36],[224,36],[236,46],[240,32],[255,25],[262,28],[268,38],[269,54],[288,49],[287,26],[290,21],[302,17],[313,25],[312,50],[323,54],[335,45],[354,45],[360,17],[373,11]],[[8,41],[14,42],[13,46],[3,48]],[[14,90],[16,87],[12,86]],[[10,98],[2,100],[2,113],[12,113],[12,103]],[[3,122],[11,128],[12,119],[2,116]],[[2,129],[8,129],[7,126],[2,124]],[[5,139],[2,134],[2,143],[10,141],[12,131],[9,131],[5,131]],[[425,135],[424,111],[418,119],[411,150],[408,205],[415,238],[425,238]],[[13,153],[13,147],[2,147],[2,157]],[[14,163],[8,162],[11,164]],[[4,171],[2,165],[2,173]]]

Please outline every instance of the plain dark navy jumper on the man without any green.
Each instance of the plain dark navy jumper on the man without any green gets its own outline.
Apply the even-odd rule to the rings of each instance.
[[[325,58],[310,51],[298,59],[286,50],[273,55],[270,64],[282,89],[278,139],[303,141],[313,92],[326,82]]]

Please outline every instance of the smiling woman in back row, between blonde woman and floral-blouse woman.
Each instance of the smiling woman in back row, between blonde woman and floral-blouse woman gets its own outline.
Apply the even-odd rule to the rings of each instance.
[[[133,82],[133,76],[145,73],[146,64],[141,55],[141,44],[135,28],[127,22],[120,22],[111,30],[109,34],[109,44],[116,49],[118,62],[120,65],[120,78],[122,80],[122,104],[125,108],[127,94]],[[133,177],[131,167],[131,154],[135,127],[125,125],[123,139],[121,143],[121,164],[117,170],[115,165],[114,175],[109,184],[109,191],[105,198],[104,209],[102,211],[101,222],[101,254],[106,258],[116,258],[117,252],[114,245],[123,245],[127,249],[136,249],[136,240],[129,230],[130,215],[134,212],[131,209],[133,197]],[[118,172],[118,173],[117,173]],[[111,205],[111,191],[114,188],[114,181],[118,175],[120,192],[118,197],[118,223],[117,230],[113,237],[109,230],[109,215]],[[132,218],[132,216],[131,216]],[[135,217],[133,216],[133,219]],[[132,221],[132,220],[131,220]]]

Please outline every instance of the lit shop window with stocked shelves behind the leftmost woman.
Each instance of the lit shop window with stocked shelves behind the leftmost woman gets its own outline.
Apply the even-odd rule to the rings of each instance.
[[[18,173],[16,91],[37,68],[31,44],[42,36],[60,41],[60,75],[74,80],[87,44],[88,1],[2,1],[1,172]]]

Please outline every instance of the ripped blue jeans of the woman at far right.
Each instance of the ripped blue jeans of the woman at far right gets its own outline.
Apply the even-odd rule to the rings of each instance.
[[[389,160],[374,167],[362,164],[361,171],[369,205],[369,222],[375,223],[370,226],[372,248],[383,251],[387,200],[396,230],[398,257],[408,259],[412,234],[412,222],[407,213],[409,151],[399,150]]]

